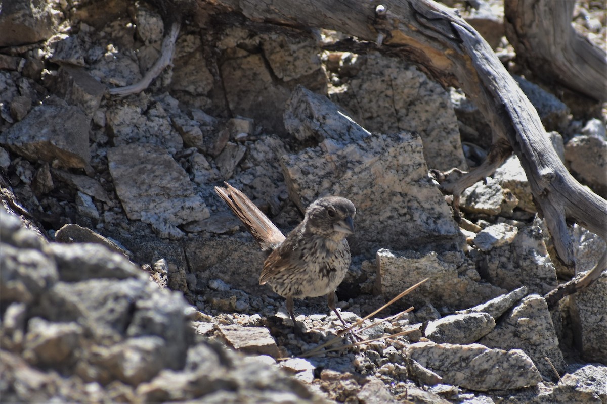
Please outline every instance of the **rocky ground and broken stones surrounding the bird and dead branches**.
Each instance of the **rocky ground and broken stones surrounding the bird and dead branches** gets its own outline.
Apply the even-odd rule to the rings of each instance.
[[[447,3],[524,74],[500,2]],[[542,297],[605,243],[574,225],[577,267],[561,265],[515,156],[453,220],[429,170],[467,170],[490,145],[461,91],[322,50],[339,33],[192,16],[148,90],[110,96],[154,64],[163,22],[103,4],[0,14],[2,402],[607,403],[607,273],[556,308]],[[604,47],[602,2],[574,22]],[[606,197],[604,105],[516,78]],[[372,342],[337,337],[322,298],[296,302],[296,337],[257,283],[265,254],[214,193],[224,180],[284,231],[319,196],[354,202],[348,322],[428,280],[362,322]]]

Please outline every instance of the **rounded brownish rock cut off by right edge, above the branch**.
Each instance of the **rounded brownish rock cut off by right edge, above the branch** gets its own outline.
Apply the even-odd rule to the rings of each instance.
[[[571,174],[602,197],[607,197],[607,141],[595,136],[575,136],[565,146]]]

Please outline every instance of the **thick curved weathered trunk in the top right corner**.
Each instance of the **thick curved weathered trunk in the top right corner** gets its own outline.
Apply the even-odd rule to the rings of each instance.
[[[607,54],[571,26],[574,1],[508,0],[504,24],[517,61],[539,78],[607,101]]]

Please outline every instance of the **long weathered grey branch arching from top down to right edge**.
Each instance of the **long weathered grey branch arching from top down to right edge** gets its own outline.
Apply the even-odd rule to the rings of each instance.
[[[188,0],[183,3],[192,5]],[[418,65],[444,87],[462,88],[483,113],[493,134],[489,156],[480,167],[463,176],[444,173],[441,188],[453,194],[456,216],[461,193],[492,174],[514,150],[527,174],[538,211],[546,220],[558,257],[565,265],[575,265],[567,222],[582,225],[607,240],[607,201],[586,190],[569,174],[531,102],[487,42],[456,10],[432,0],[393,0],[384,4],[379,1],[208,0],[196,4],[200,8],[195,13],[205,14],[207,19],[230,20],[237,14],[254,22],[300,30],[340,31],[355,36],[358,41],[341,44],[342,47],[350,46],[356,51],[375,44],[371,46],[382,53]],[[605,267],[607,252],[582,279],[561,285],[546,299],[554,305],[566,294],[582,290],[597,280]]]

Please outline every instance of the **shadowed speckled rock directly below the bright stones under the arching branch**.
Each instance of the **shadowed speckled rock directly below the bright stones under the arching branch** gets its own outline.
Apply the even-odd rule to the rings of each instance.
[[[506,290],[524,285],[530,293],[542,295],[557,287],[557,273],[548,255],[544,233],[538,220],[531,226],[519,229],[514,238],[505,245],[472,254],[475,256],[478,272],[484,279]],[[495,226],[509,228],[514,232],[514,228],[507,225]],[[490,238],[490,234],[487,234],[487,239]],[[500,240],[495,242],[501,243]],[[487,246],[489,243],[481,245]]]

